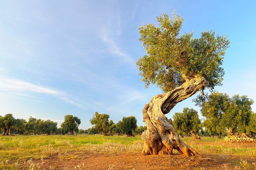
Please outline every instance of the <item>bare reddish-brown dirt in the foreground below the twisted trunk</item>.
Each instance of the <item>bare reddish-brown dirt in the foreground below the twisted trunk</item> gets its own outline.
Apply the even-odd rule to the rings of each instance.
[[[42,168],[55,170],[88,169],[88,170],[212,170],[212,169],[236,169],[240,166],[240,159],[250,164],[248,169],[254,169],[252,165],[255,158],[242,158],[227,155],[202,155],[198,157],[185,157],[183,155],[148,155],[140,153],[117,153],[117,154],[93,154],[93,153],[68,153],[74,158],[60,158],[53,156],[44,159]],[[38,163],[41,160],[37,161]],[[79,167],[78,167],[78,166]],[[256,168],[255,168],[256,169]]]

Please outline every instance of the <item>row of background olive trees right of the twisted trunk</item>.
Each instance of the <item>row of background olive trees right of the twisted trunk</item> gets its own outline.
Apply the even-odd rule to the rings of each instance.
[[[194,109],[184,108],[181,113],[175,113],[173,127],[180,136],[192,135],[200,139],[198,134],[221,138],[226,134],[246,133],[255,137],[256,114],[251,109],[252,99],[214,92],[204,100],[198,97],[195,101],[196,105],[201,106],[204,119],[201,122]]]

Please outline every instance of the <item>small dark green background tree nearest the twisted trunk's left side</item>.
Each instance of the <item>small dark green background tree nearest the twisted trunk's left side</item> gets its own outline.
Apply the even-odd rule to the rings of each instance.
[[[123,117],[122,119],[122,132],[126,134],[127,137],[133,136],[133,131],[137,127],[137,119],[134,116]]]

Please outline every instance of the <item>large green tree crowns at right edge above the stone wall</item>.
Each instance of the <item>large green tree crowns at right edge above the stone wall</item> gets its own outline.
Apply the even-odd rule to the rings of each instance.
[[[202,104],[201,112],[205,117],[203,125],[217,134],[230,127],[240,133],[256,133],[256,117],[251,110],[252,104],[253,100],[247,96],[229,97],[225,93],[211,93]]]

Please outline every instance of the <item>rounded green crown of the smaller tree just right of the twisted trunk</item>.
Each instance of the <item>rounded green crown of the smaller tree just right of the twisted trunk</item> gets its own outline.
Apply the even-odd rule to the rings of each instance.
[[[173,127],[176,132],[184,133],[186,135],[190,134],[191,130],[197,132],[200,129],[200,119],[198,117],[198,112],[194,109],[184,108],[181,113],[176,112],[173,115]]]

